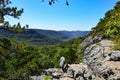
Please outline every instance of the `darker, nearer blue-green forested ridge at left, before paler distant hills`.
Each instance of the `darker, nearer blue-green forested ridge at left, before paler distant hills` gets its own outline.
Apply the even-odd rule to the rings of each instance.
[[[16,38],[17,40],[25,41],[30,45],[50,45],[50,44],[53,45],[61,42],[58,39],[48,37],[44,34],[40,34],[39,32],[32,29],[28,29],[21,34],[15,34],[9,31],[1,30],[0,35],[4,37],[8,37],[10,39]]]

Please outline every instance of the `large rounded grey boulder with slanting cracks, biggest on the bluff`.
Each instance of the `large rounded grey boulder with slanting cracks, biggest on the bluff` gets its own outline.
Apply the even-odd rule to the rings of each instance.
[[[100,62],[103,59],[104,48],[93,44],[87,47],[84,51],[84,63],[88,66],[95,62]]]

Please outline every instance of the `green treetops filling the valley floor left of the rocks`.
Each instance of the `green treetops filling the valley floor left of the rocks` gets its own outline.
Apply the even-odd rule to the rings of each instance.
[[[23,80],[30,75],[40,75],[44,69],[59,67],[61,56],[68,63],[79,63],[82,60],[78,52],[81,42],[82,38],[77,38],[57,45],[29,46],[16,39],[1,37],[0,78]]]

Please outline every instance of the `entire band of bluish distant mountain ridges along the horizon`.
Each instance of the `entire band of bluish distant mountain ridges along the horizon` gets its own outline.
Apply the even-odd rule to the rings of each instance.
[[[0,30],[2,36],[25,40],[35,44],[56,44],[60,41],[82,37],[89,34],[89,31],[54,31],[42,29],[28,29],[21,34],[13,34],[8,31]]]

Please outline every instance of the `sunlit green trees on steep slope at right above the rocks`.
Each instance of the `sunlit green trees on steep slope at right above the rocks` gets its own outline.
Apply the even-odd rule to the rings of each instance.
[[[96,27],[92,28],[91,36],[102,35],[104,38],[113,40],[116,45],[112,49],[119,49],[120,46],[120,1],[115,7],[109,10],[103,19],[100,19]]]

